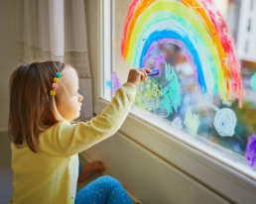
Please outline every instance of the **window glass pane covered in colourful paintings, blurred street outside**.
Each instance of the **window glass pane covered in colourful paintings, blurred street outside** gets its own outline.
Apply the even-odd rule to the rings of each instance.
[[[136,10],[138,6],[136,2],[140,1],[112,1],[110,22],[112,37],[109,48],[112,65],[111,68],[104,68],[104,72],[108,73],[108,78],[104,78],[104,89],[108,90],[108,94],[104,97],[114,96],[116,89],[126,82],[130,68],[159,67],[159,75],[149,77],[137,88],[132,113],[146,118],[150,123],[165,129],[177,138],[199,146],[201,150],[210,151],[221,159],[228,159],[234,165],[254,173],[256,168],[249,166],[249,161],[245,158],[249,139],[256,134],[256,8],[253,7],[254,4],[239,0],[223,0],[222,3],[217,1],[216,4],[234,38],[241,59],[239,62],[241,72],[233,72],[240,69],[232,64],[232,54],[227,54],[229,57],[226,58],[222,57],[222,61],[219,62],[219,67],[226,67],[225,70],[217,67],[215,60],[219,58],[221,51],[216,51],[217,46],[212,46],[211,41],[215,42],[214,39],[207,39],[210,36],[201,28],[205,28],[205,22],[195,21],[196,13],[192,9],[188,10],[188,6],[192,7],[192,5],[182,3],[186,1],[170,1],[175,5],[176,10],[167,9],[168,4],[161,7],[161,2],[167,1],[156,1],[154,4],[160,5],[155,8],[155,12],[159,12],[157,15],[153,15],[154,4],[139,13],[138,18],[133,19],[134,30],[128,43],[133,50],[127,51],[124,60],[120,49],[124,25],[127,22],[132,24],[132,21],[125,21],[126,15],[131,3],[134,3]],[[195,7],[196,4],[193,5]],[[210,5],[196,6],[206,8]],[[141,9],[143,10],[143,7]],[[131,13],[132,16],[135,16],[134,13]],[[191,16],[186,17],[188,14]],[[190,19],[193,17],[194,21]],[[213,25],[212,21],[211,25]],[[224,27],[221,29],[223,32]],[[221,31],[217,32],[221,33]],[[228,35],[226,31],[225,35]],[[126,41],[127,36],[124,38]],[[150,41],[150,38],[155,39]],[[231,48],[223,46],[223,42],[220,42],[222,48],[225,47],[226,51]],[[200,49],[195,48],[194,45]],[[133,51],[137,51],[138,54],[134,54]],[[144,55],[141,54],[142,52]],[[239,89],[239,76],[241,89]],[[252,154],[250,156],[252,157]]]

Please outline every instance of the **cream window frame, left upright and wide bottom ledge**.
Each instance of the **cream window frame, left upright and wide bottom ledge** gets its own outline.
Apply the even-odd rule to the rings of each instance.
[[[111,0],[99,0],[99,56],[100,66],[95,77],[94,113],[100,114],[109,101],[102,98],[105,84],[104,67],[111,68]],[[107,6],[105,6],[107,5]],[[109,76],[110,78],[110,76]],[[94,83],[95,84],[95,83]],[[130,112],[119,132],[155,153],[179,170],[230,202],[250,204],[256,200],[256,177],[245,173],[229,160],[201,151],[196,145],[182,141],[178,136],[150,124],[147,119]]]

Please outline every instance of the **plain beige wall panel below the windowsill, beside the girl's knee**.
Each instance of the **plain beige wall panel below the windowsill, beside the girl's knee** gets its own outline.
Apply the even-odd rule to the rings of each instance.
[[[82,154],[102,160],[106,171],[144,204],[229,203],[120,133]]]

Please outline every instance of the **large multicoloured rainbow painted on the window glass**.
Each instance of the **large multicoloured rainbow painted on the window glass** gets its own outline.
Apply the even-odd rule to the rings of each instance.
[[[212,0],[133,0],[124,23],[121,56],[134,67],[144,67],[152,51],[164,43],[185,52],[204,98],[219,93],[222,103],[230,105],[234,96],[242,108],[240,63]]]

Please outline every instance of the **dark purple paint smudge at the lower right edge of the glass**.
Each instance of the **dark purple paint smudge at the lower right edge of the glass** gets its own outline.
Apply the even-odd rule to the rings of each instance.
[[[250,166],[256,165],[256,134],[249,138],[244,156],[250,161]]]

